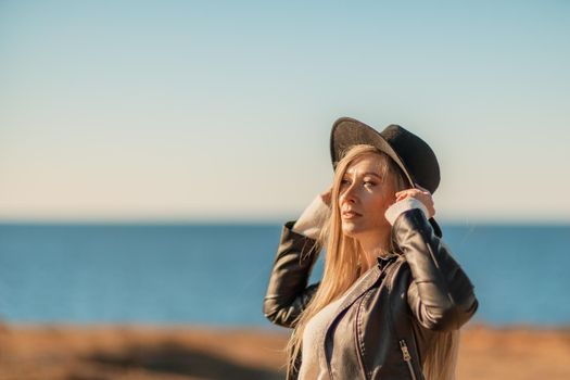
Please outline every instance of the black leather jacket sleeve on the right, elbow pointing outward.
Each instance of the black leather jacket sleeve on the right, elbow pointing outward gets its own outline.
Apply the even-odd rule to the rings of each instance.
[[[428,329],[459,329],[478,308],[473,286],[425,214],[413,208],[397,217],[392,241],[405,255],[413,281],[407,291],[411,313]]]

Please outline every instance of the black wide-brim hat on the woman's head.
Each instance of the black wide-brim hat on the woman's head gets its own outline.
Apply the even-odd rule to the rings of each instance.
[[[402,169],[410,187],[419,185],[432,194],[440,185],[440,164],[430,145],[409,130],[389,125],[381,132],[351,117],[341,117],[332,125],[330,132],[330,155],[332,166],[357,144],[369,144],[388,154]],[[442,231],[435,219],[430,218],[435,235]]]

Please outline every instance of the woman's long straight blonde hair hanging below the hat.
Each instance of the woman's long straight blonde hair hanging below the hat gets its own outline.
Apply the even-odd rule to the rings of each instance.
[[[307,322],[325,306],[341,296],[362,275],[365,254],[358,241],[342,232],[339,194],[342,178],[355,159],[364,154],[378,154],[382,157],[379,174],[383,180],[393,180],[395,191],[409,185],[397,165],[376,147],[359,144],[352,147],[338,163],[331,189],[331,213],[321,230],[319,242],[326,246],[325,268],[317,292],[295,321],[293,333],[287,344],[288,371],[295,368],[295,358],[301,352],[303,332]],[[426,355],[423,372],[428,380],[452,380],[455,378],[458,333],[438,332],[431,349]]]

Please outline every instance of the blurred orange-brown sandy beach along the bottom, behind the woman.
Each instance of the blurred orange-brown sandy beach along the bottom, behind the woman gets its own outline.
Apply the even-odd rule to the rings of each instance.
[[[0,379],[282,379],[288,330],[151,326],[0,329]],[[570,379],[570,328],[463,332],[458,379]]]

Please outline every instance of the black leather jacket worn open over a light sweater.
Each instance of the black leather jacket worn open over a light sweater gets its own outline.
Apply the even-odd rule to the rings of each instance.
[[[293,224],[284,225],[264,300],[265,316],[284,327],[294,327],[318,287],[307,282],[320,249],[292,231]],[[423,379],[433,334],[459,329],[477,311],[471,281],[420,210],[397,217],[392,240],[397,252],[378,258],[327,327],[331,379]]]

